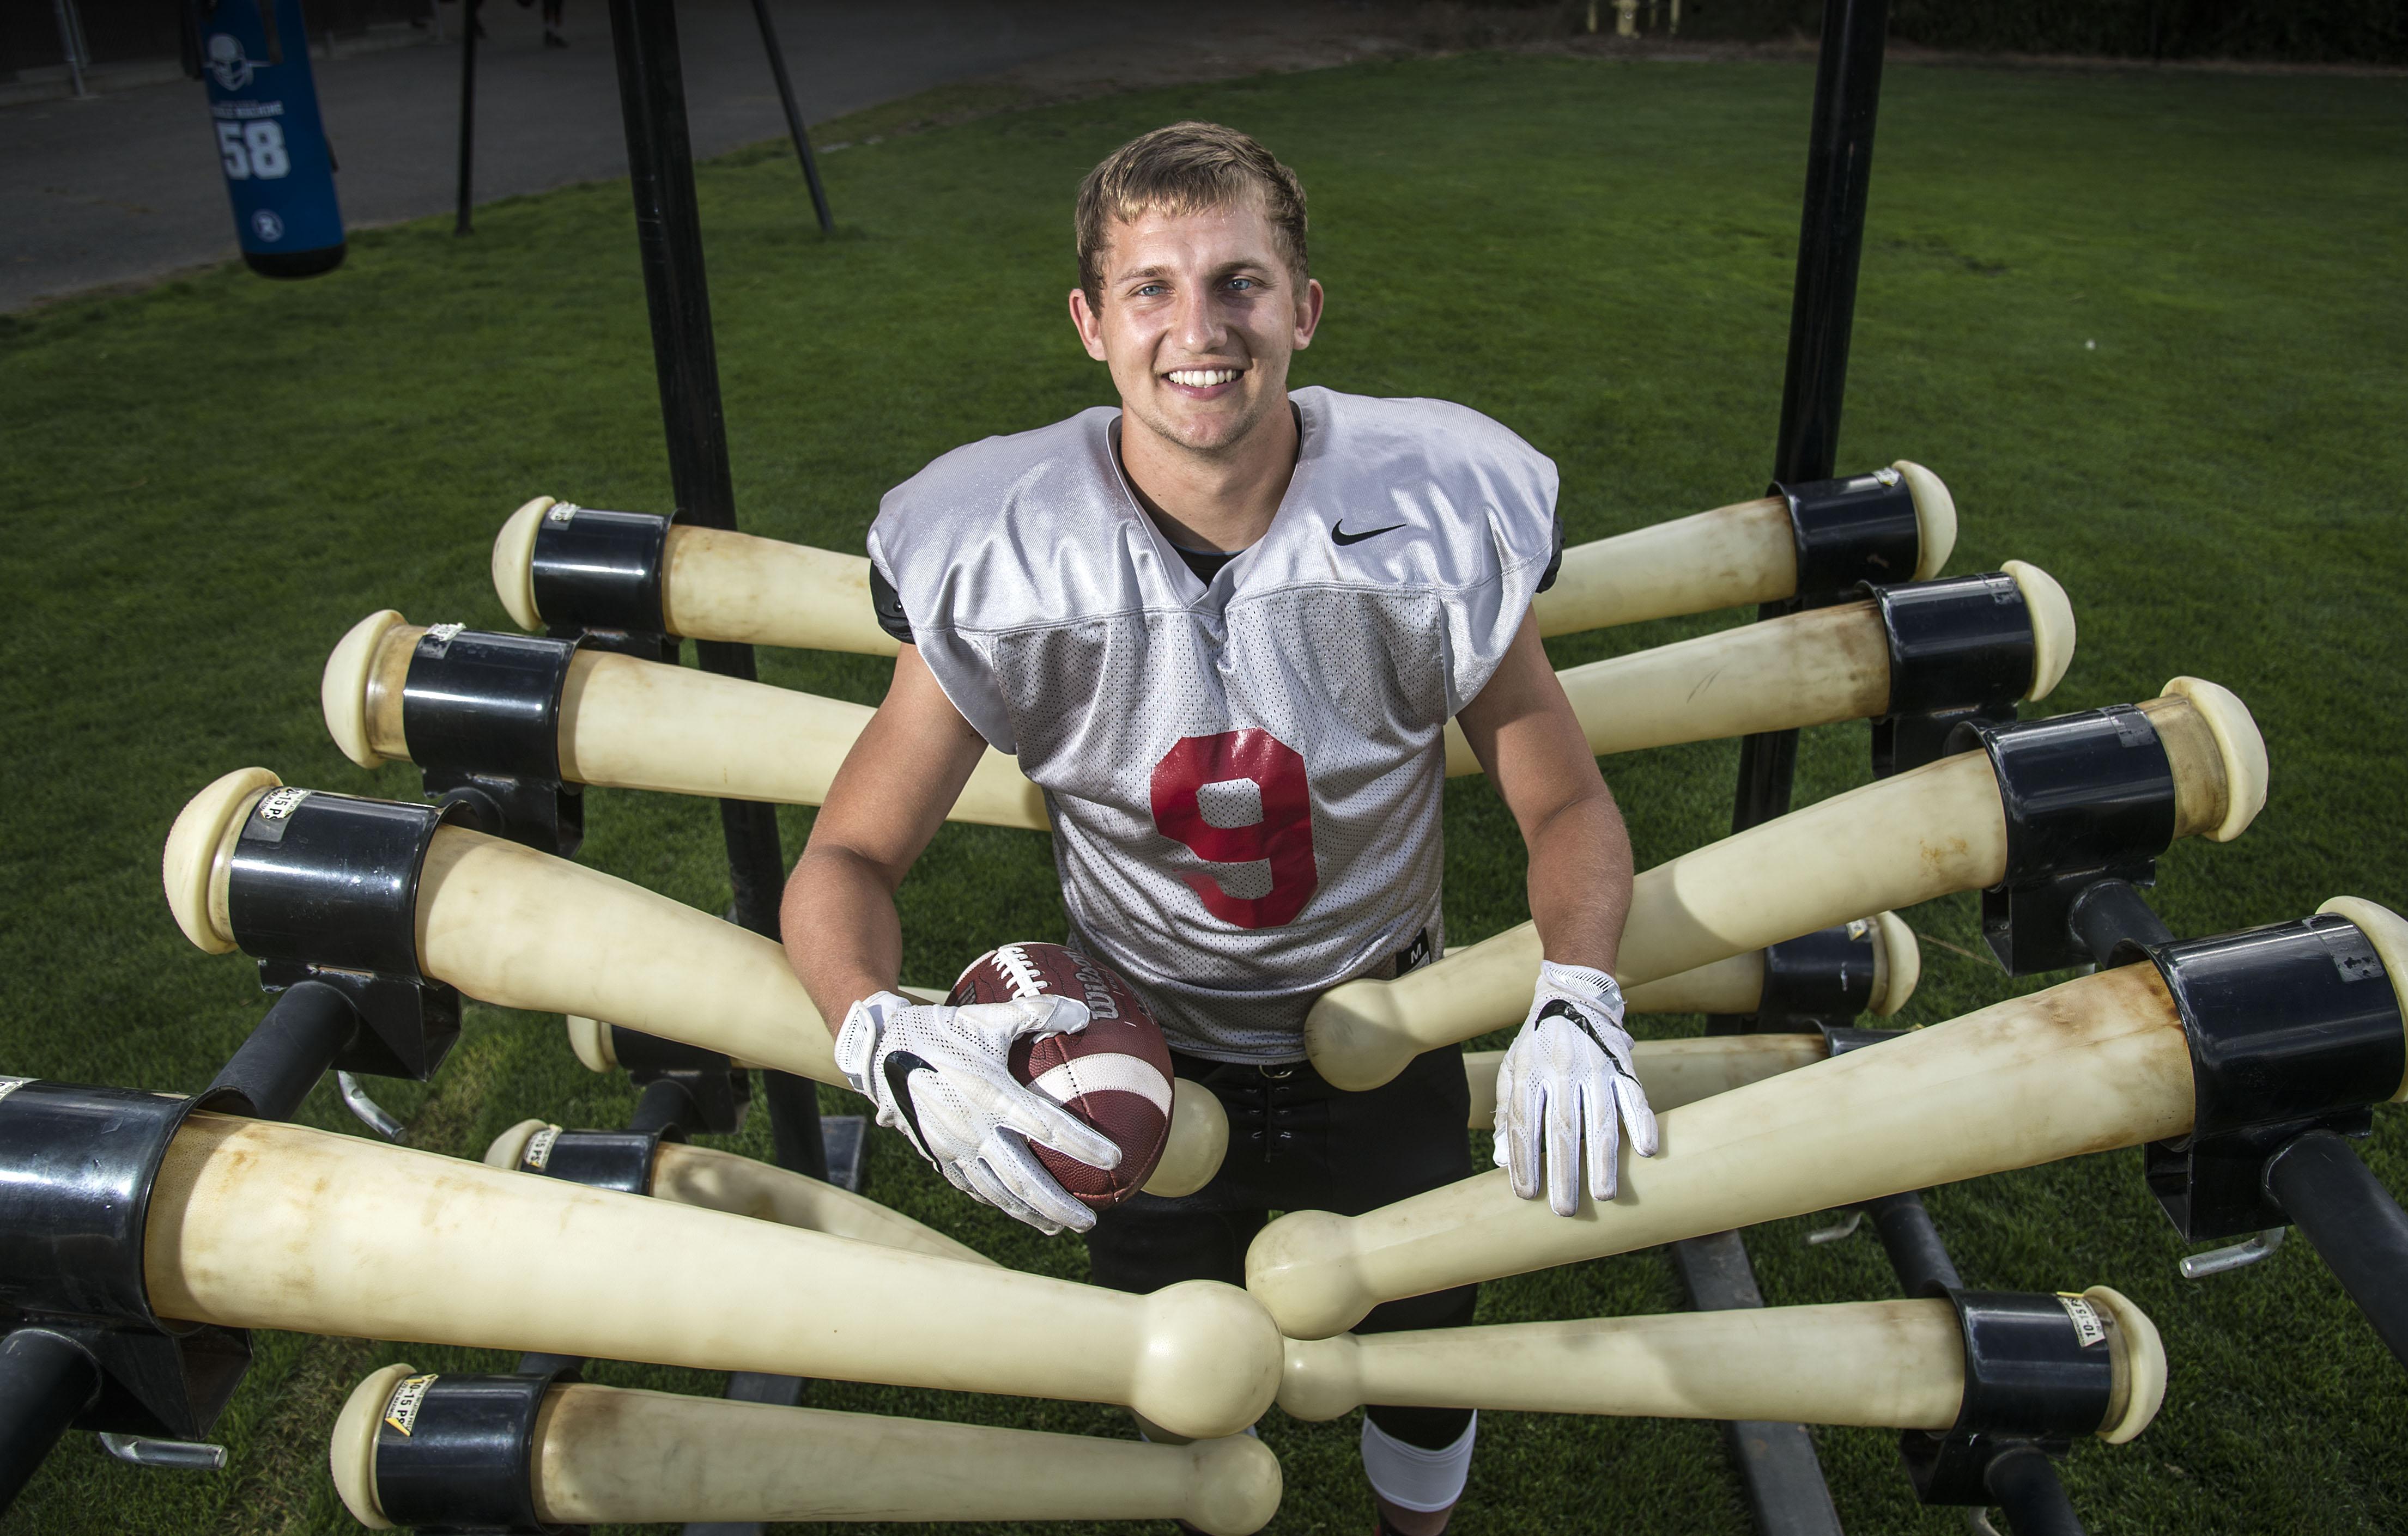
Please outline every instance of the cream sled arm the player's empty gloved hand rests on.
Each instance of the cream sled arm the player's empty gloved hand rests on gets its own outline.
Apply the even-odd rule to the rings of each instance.
[[[2408,951],[2398,917],[2329,905],[2377,953]],[[1669,1110],[1657,1156],[1625,1158],[1621,1192],[1572,1218],[1515,1199],[1503,1170],[1368,1216],[1283,1216],[1247,1250],[1247,1288],[1286,1334],[1324,1339],[1382,1300],[2167,1141],[2191,1093],[2165,980],[2121,965]]]

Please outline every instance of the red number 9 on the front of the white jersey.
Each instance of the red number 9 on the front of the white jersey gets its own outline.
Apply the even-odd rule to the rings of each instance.
[[[1204,821],[1197,790],[1238,778],[1252,780],[1262,792],[1262,821],[1252,826]],[[1206,874],[1180,876],[1221,922],[1279,927],[1305,910],[1305,900],[1322,881],[1312,864],[1312,790],[1305,785],[1305,758],[1264,729],[1182,737],[1153,766],[1153,826],[1214,864],[1271,864],[1271,888],[1264,896],[1230,896]]]

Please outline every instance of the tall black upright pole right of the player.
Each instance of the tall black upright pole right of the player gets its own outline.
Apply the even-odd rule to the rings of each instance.
[[[1847,337],[1857,320],[1857,258],[1864,253],[1864,197],[1873,181],[1873,111],[1881,106],[1881,46],[1888,0],[1825,0],[1816,60],[1813,137],[1806,149],[1806,214],[1789,299],[1789,361],[1782,368],[1782,429],[1772,479],[1830,479],[1847,392]],[[1816,597],[1799,592],[1799,597]],[[1760,619],[1792,612],[1765,604]],[[1739,802],[1731,831],[1789,809],[1799,734],[1763,732],[1739,744]]]

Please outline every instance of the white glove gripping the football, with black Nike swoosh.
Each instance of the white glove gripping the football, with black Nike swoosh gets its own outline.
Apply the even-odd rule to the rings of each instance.
[[[1047,1237],[1084,1233],[1096,1213],[1045,1172],[1028,1144],[1093,1168],[1117,1168],[1120,1146],[1021,1086],[1009,1064],[1014,1040],[1084,1028],[1086,1004],[1072,997],[949,1009],[874,992],[845,1014],[836,1067],[879,1105],[879,1124],[903,1132],[956,1189]]]

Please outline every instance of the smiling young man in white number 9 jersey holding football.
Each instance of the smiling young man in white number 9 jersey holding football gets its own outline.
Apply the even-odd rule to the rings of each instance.
[[[1616,1187],[1621,1122],[1654,1151],[1613,951],[1630,845],[1546,664],[1556,467],[1438,400],[1288,392],[1322,286],[1296,173],[1175,123],[1079,190],[1069,318],[1120,409],[987,438],[886,496],[879,616],[905,640],[787,888],[785,934],[836,1057],[946,1177],[1088,1233],[1096,1283],[1245,1281],[1274,1209],[1361,1213],[1469,1172],[1462,1052],[1370,1093],[1305,1062],[1324,989],[1442,949],[1442,729],[1459,720],[1529,845],[1546,965],[1498,1093],[1515,1194],[1570,1216]],[[893,891],[987,746],[1045,790],[1069,944],[1153,1006],[1180,1076],[1230,1112],[1221,1175],[1096,1218],[1028,1151],[1117,1148],[1011,1081],[1076,1002],[917,1006],[893,992]],[[1587,1144],[1587,1156],[1582,1156]],[[1358,1331],[1454,1327],[1474,1288]],[[1435,1536],[1469,1411],[1370,1408],[1380,1529]]]

